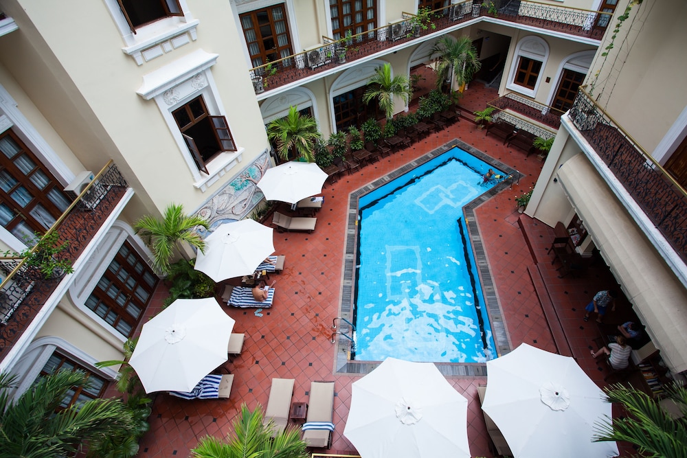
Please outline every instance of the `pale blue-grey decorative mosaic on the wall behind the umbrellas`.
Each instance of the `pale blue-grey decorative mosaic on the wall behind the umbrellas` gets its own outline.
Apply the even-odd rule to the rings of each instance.
[[[196,211],[196,215],[210,222],[211,232],[225,222],[242,220],[262,201],[264,195],[257,185],[269,164],[268,150],[264,150],[251,165]]]

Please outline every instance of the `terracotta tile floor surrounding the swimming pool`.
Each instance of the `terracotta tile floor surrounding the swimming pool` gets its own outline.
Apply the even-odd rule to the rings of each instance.
[[[482,109],[484,102],[495,97],[496,91],[473,83],[462,105]],[[514,201],[517,194],[534,185],[543,163],[534,155],[526,157],[521,150],[505,148],[502,141],[486,137],[484,130],[477,130],[474,124],[463,119],[411,148],[368,165],[356,174],[343,176],[333,185],[326,185],[324,206],[317,213],[317,229],[312,234],[275,231],[276,253],[286,255],[286,264],[281,275],[273,276],[277,279],[273,308],[262,310],[262,317],[256,316],[255,309],[227,309],[236,319],[234,332],[247,335],[243,353],[225,365],[236,376],[231,398],[185,401],[158,393],[150,416],[151,429],[141,442],[140,457],[186,457],[201,437],[224,437],[242,403],[251,409],[258,403],[263,407],[267,404],[273,377],[295,378],[293,402],[308,400],[311,380],[335,380],[336,429],[333,446],[326,452],[356,453],[343,437],[343,428],[350,406],[350,385],[358,378],[334,375],[334,345],[330,342],[332,320],[337,316],[340,302],[348,194],[455,138],[524,174],[512,190],[501,192],[476,212],[511,347],[526,342],[556,352],[528,272],[528,267],[539,267],[547,286],[544,294],[548,294],[559,314],[574,356],[587,374],[602,386],[605,369],[589,356],[598,329],[595,323],[583,322],[582,309],[597,290],[615,286],[613,278],[605,266],[589,269],[580,278],[557,278],[559,272],[555,269],[558,266],[552,265],[546,254],[553,230],[537,220],[519,215]],[[531,251],[521,226],[526,227]],[[160,286],[155,304],[165,295],[164,286]],[[613,317],[609,316],[608,321],[613,322]],[[449,381],[469,400],[468,437],[472,455],[491,457],[477,399],[477,385],[485,383],[486,378],[449,378]]]

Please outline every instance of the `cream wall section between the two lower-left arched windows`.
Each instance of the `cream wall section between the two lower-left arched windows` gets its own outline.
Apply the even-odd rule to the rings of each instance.
[[[63,299],[66,301],[67,299]],[[60,305],[50,314],[34,340],[45,336],[56,336],[84,350],[96,360],[119,360],[123,358],[123,341],[105,332],[80,310],[71,305]]]

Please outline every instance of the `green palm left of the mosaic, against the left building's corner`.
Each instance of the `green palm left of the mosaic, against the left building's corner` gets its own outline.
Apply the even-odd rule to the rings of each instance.
[[[170,261],[179,253],[190,259],[188,247],[203,251],[205,240],[195,229],[210,229],[205,218],[188,216],[183,212],[183,205],[170,203],[161,220],[154,216],[144,216],[134,223],[133,229],[153,251],[153,266],[161,273],[170,271]]]

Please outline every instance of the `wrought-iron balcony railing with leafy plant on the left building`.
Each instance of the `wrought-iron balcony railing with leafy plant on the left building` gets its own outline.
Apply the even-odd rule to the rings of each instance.
[[[104,220],[126,192],[126,180],[113,161],[109,161],[76,200],[58,218],[44,237],[55,231],[59,242],[67,242],[56,260],[73,263],[81,255]],[[28,257],[34,254],[34,246]],[[30,325],[46,299],[57,288],[63,272],[46,278],[27,258],[0,258],[0,271],[6,277],[0,284],[0,359],[7,354]],[[5,276],[3,275],[3,276]]]

